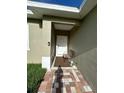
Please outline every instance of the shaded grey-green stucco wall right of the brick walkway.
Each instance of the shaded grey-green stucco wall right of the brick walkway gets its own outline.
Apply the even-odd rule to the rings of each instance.
[[[75,51],[74,62],[95,91],[97,89],[97,7],[70,33],[69,49]]]

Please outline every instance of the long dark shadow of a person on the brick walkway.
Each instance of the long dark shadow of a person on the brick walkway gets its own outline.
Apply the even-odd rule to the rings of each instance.
[[[63,77],[63,70],[59,65],[58,69],[55,71],[55,80],[52,85],[52,93],[62,93],[61,91],[63,87],[62,77]]]

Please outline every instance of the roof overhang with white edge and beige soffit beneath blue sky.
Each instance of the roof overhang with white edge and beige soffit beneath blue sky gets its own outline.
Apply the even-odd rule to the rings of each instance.
[[[44,15],[70,19],[82,19],[97,4],[97,0],[84,0],[80,8],[27,1],[27,17],[42,19]]]

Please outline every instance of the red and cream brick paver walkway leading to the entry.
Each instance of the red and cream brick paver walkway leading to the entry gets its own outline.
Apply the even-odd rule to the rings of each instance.
[[[63,77],[59,81],[55,76],[56,70],[57,68],[52,68],[45,74],[38,93],[93,93],[79,70],[62,68]]]

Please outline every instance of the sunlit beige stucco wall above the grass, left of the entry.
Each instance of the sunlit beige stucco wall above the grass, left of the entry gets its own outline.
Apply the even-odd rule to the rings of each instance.
[[[27,52],[28,63],[41,63],[42,56],[50,56],[51,21],[28,20],[29,48]]]

